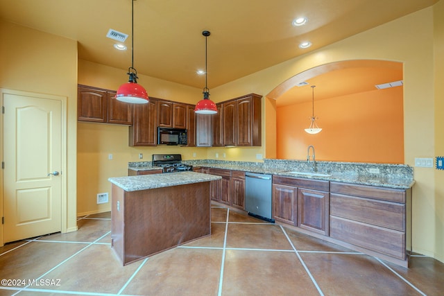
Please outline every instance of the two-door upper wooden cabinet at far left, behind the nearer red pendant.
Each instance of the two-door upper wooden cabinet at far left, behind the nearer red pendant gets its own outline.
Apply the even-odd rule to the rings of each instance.
[[[133,124],[133,104],[117,101],[110,89],[78,85],[78,121]]]

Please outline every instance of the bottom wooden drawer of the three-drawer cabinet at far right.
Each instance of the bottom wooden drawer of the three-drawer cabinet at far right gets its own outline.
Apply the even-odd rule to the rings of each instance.
[[[330,216],[330,236],[398,259],[406,258],[404,232]]]

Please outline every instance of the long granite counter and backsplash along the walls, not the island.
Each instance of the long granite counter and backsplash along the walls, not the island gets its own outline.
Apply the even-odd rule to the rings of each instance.
[[[207,168],[223,168],[234,171],[245,171],[252,173],[264,173],[271,175],[282,175],[287,177],[298,177],[313,180],[327,180],[332,182],[343,182],[369,186],[380,186],[394,189],[409,189],[415,181],[413,180],[413,168],[397,164],[363,164],[346,162],[316,162],[316,173],[322,175],[298,175],[289,173],[300,171],[310,173],[311,164],[306,161],[291,159],[265,159],[265,162],[230,162],[205,159],[193,161],[182,161],[192,166],[203,166]],[[151,166],[151,162],[136,162],[128,164],[128,168],[135,171],[148,171],[159,169]],[[370,173],[370,168],[377,168],[381,173]]]

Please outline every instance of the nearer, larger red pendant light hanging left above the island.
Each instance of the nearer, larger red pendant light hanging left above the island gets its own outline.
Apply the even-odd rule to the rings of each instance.
[[[116,98],[125,103],[145,104],[149,101],[148,94],[142,85],[137,84],[137,70],[134,68],[134,1],[131,0],[131,67],[127,73],[130,78],[117,89]]]

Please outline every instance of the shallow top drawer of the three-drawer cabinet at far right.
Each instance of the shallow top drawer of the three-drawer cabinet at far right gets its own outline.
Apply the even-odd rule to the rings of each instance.
[[[375,198],[390,202],[405,203],[406,193],[404,189],[386,189],[376,186],[357,185],[348,183],[330,182],[330,191],[347,195],[355,195],[361,198]]]

